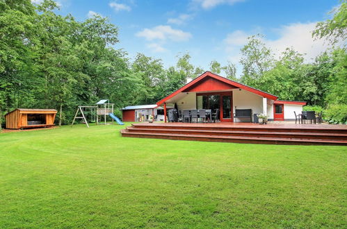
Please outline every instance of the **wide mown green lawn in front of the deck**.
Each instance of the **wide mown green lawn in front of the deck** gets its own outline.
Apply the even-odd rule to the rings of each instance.
[[[0,134],[0,228],[346,226],[344,146]]]

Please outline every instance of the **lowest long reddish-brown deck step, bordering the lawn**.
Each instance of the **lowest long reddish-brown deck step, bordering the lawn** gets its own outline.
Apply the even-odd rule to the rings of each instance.
[[[196,135],[183,133],[153,133],[136,132],[129,129],[122,129],[123,137],[145,137],[158,139],[177,139],[204,142],[234,142],[252,144],[307,144],[307,145],[347,145],[347,140],[337,139],[290,139],[283,137],[245,137],[245,136],[225,136],[225,135]]]

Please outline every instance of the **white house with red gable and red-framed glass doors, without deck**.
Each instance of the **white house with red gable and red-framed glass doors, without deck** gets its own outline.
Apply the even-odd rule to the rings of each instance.
[[[253,114],[265,114],[268,120],[295,120],[306,102],[280,101],[278,97],[254,87],[237,83],[210,71],[198,76],[179,90],[169,94],[156,105],[164,107],[175,105],[179,110],[210,109],[219,112],[220,121],[252,121]],[[234,117],[237,110],[251,110],[251,119]],[[166,115],[164,115],[166,117]]]

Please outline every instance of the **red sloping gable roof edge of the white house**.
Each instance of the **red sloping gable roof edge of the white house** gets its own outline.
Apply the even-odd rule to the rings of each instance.
[[[217,74],[214,74],[211,71],[205,71],[203,74],[201,74],[200,76],[197,76],[197,78],[191,80],[191,82],[189,82],[186,85],[184,85],[183,87],[179,88],[179,90],[172,92],[171,94],[166,96],[164,99],[161,99],[161,101],[158,101],[156,104],[161,105],[161,104],[165,103],[166,101],[168,101],[168,99],[171,99],[173,96],[175,96],[181,92],[185,92],[185,90],[188,90],[188,88],[197,87],[197,86],[195,86],[195,84],[203,82],[202,80],[204,80],[204,78],[207,78],[207,77],[210,77],[210,78],[213,78],[213,79],[218,80],[220,82],[223,82],[226,85],[230,85],[231,88],[241,88],[243,90],[258,94],[259,96],[263,96],[263,97],[268,98],[268,99],[277,100],[277,98],[278,98],[277,96],[270,94],[268,92],[263,92],[261,90],[257,90],[254,87],[249,87],[249,86],[244,85],[242,83],[237,83],[234,80],[229,80],[228,78],[225,78],[223,76],[218,76]]]

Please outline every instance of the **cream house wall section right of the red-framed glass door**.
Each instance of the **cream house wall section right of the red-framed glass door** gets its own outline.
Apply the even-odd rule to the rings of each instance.
[[[252,119],[253,114],[260,114],[263,112],[263,97],[248,92],[246,90],[233,89],[232,90],[232,105],[233,111],[235,113],[236,109],[252,109]],[[241,121],[235,119],[235,121]],[[244,120],[242,120],[244,121]]]

